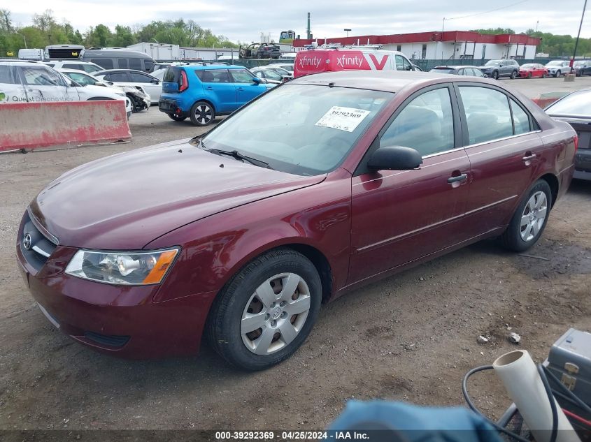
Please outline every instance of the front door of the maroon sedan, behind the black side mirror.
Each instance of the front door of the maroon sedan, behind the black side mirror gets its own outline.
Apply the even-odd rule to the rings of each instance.
[[[366,168],[371,152],[392,145],[420,152],[420,168]],[[461,242],[469,174],[453,87],[437,85],[413,94],[380,131],[353,176],[348,282]]]

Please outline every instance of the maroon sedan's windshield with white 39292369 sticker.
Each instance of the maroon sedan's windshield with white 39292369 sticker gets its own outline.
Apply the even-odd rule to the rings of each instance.
[[[319,175],[336,168],[394,94],[285,84],[202,138],[206,149],[238,151],[273,169]]]

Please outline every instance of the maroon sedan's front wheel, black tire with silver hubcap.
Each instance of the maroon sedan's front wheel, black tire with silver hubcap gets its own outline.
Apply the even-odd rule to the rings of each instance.
[[[236,367],[269,368],[304,343],[321,299],[320,277],[308,258],[291,249],[269,251],[250,261],[221,290],[209,312],[207,339]]]

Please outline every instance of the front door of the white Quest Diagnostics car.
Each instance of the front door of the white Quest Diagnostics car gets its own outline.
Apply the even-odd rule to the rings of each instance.
[[[42,64],[27,64],[18,66],[17,70],[29,103],[78,101],[80,99],[76,88],[68,87],[62,75],[52,68]]]

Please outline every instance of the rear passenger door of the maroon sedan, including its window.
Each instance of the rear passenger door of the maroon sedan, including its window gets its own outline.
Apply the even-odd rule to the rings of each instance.
[[[464,228],[476,236],[508,222],[532,182],[541,140],[525,106],[505,91],[473,83],[456,89],[472,179]]]

